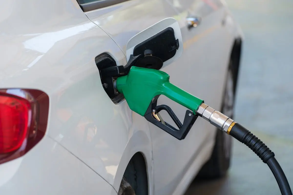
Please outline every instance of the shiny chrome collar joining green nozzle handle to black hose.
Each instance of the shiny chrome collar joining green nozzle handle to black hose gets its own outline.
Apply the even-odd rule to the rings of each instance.
[[[207,104],[202,103],[198,107],[196,113],[209,121],[212,125],[217,127],[218,129],[227,133],[229,126],[234,122],[231,118],[226,115],[220,113],[219,111],[215,111],[213,108],[209,107]]]

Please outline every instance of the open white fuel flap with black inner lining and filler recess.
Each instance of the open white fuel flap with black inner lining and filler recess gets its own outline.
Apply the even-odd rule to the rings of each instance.
[[[178,22],[166,18],[132,37],[126,46],[127,64],[116,65],[109,54],[96,57],[100,78],[109,98],[118,103],[124,96],[114,87],[118,77],[129,73],[132,66],[159,70],[176,61],[183,52],[183,42]]]

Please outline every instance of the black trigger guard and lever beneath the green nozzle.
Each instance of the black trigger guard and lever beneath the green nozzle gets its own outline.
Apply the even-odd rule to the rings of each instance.
[[[165,122],[166,125],[164,125],[162,122],[156,120],[152,115],[153,109],[155,109],[156,112],[159,112],[161,110],[167,111],[172,120],[178,126],[179,130],[168,124],[167,122]],[[173,137],[176,137],[179,140],[182,140],[186,137],[197,117],[198,115],[194,115],[192,111],[187,110],[182,124],[169,106],[157,106],[157,98],[155,99],[155,101],[152,101],[150,103],[146,113],[144,114],[144,118],[147,119],[147,121],[151,122],[152,124],[156,125],[157,127],[161,128],[162,130],[166,131],[167,133],[169,133]]]

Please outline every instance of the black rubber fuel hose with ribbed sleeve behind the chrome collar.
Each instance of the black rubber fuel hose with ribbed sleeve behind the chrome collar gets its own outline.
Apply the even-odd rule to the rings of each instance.
[[[282,195],[292,195],[290,185],[275,154],[260,139],[238,123],[231,124],[228,134],[248,146],[274,174]]]

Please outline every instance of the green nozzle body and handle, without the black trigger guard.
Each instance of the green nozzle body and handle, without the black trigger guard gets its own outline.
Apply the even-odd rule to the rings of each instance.
[[[160,70],[132,66],[128,75],[117,78],[116,88],[124,95],[130,109],[142,116],[158,95],[165,95],[196,114],[203,100],[171,84],[169,78]]]

